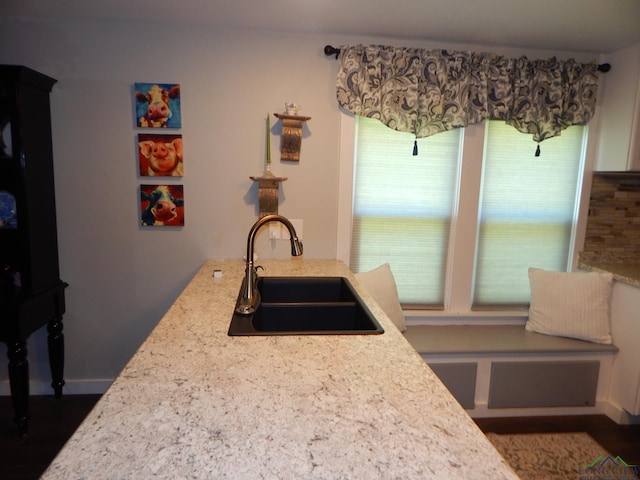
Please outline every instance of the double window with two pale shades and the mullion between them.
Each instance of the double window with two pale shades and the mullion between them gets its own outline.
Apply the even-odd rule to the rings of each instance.
[[[566,270],[585,127],[536,144],[504,122],[418,140],[356,117],[350,266],[388,262],[405,308],[529,301],[527,269]]]

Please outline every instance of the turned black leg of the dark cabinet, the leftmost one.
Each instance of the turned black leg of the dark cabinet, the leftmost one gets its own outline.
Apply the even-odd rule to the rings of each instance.
[[[9,386],[15,412],[15,422],[21,435],[27,433],[29,423],[29,361],[27,343],[16,340],[7,344],[9,357]]]

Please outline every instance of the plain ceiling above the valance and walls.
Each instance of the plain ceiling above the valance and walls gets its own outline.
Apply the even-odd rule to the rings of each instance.
[[[607,53],[640,0],[2,0],[0,17],[130,20]]]

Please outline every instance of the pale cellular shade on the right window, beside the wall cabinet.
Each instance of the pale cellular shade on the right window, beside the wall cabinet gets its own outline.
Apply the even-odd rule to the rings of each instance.
[[[531,139],[487,122],[474,308],[529,303],[529,267],[568,268],[585,127],[546,140],[539,157]]]

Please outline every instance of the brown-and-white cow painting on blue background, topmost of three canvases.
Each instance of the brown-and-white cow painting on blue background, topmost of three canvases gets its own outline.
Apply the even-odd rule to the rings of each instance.
[[[136,123],[144,128],[180,128],[180,85],[135,83]]]

